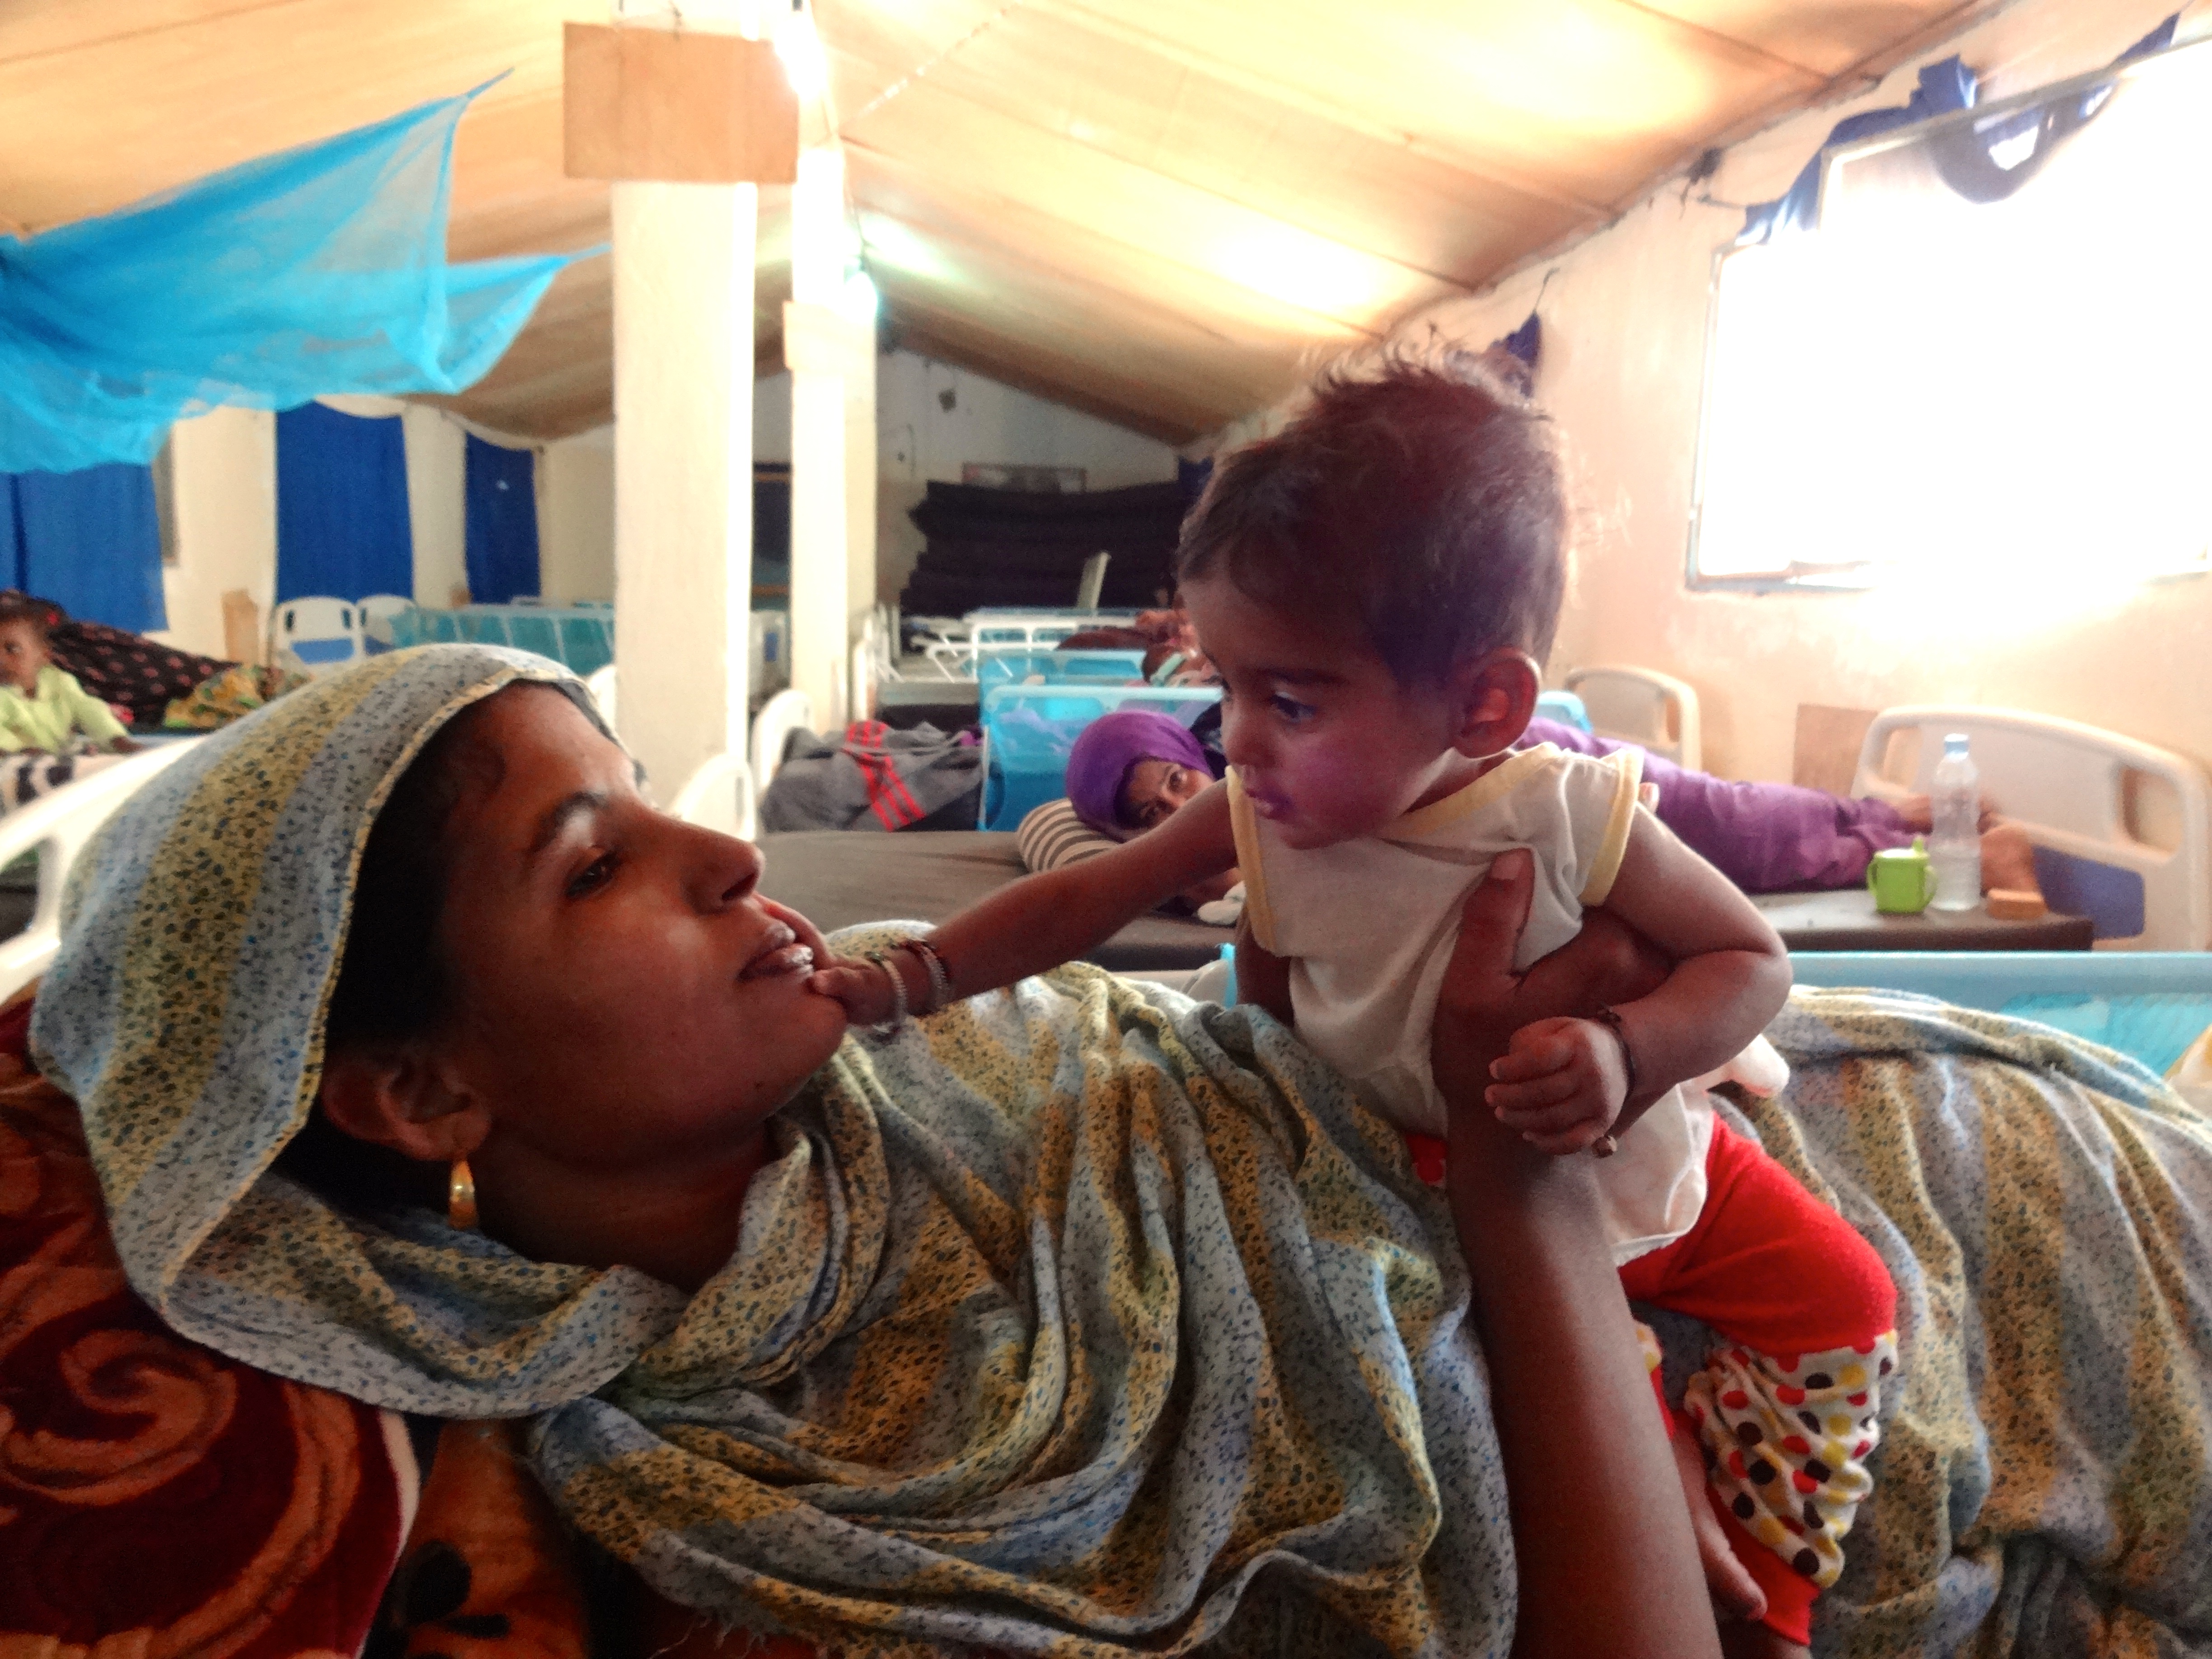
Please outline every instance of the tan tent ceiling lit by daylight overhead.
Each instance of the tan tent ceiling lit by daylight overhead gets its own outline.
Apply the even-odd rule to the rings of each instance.
[[[896,336],[1161,438],[1482,288],[1714,142],[1993,0],[818,0]],[[560,24],[608,0],[0,0],[0,217],[38,230],[513,71],[460,128],[456,259],[608,234],[562,177]],[[781,356],[787,192],[761,192]],[[611,416],[606,261],[458,398]]]

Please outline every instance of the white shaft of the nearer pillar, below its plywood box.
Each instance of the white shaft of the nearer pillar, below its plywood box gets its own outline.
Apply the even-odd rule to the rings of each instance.
[[[615,184],[615,672],[657,801],[745,748],[752,184]]]

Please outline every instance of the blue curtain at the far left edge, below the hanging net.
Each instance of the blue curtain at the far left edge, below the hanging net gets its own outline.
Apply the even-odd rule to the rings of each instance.
[[[153,469],[0,473],[7,586],[126,633],[168,626]]]

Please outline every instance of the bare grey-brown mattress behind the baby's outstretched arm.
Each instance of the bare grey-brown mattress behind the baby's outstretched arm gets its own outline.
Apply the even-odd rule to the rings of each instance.
[[[825,933],[902,916],[942,922],[1026,874],[1015,836],[991,830],[867,841],[818,830],[761,836],[761,852],[768,856],[761,891]],[[1117,971],[1194,969],[1219,958],[1232,938],[1228,927],[1155,914],[1124,927],[1088,960]]]

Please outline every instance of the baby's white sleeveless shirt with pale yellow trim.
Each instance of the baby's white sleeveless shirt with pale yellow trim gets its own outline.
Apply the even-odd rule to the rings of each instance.
[[[1245,916],[1261,947],[1290,958],[1298,1037],[1385,1119],[1444,1135],[1429,1026],[1469,889],[1498,854],[1528,847],[1535,894],[1513,967],[1559,949],[1582,929],[1584,907],[1613,891],[1641,774],[1644,754],[1632,748],[1593,759],[1542,743],[1376,836],[1301,852],[1252,812],[1232,770]],[[1781,1057],[1763,1042],[1756,1048],[1763,1053],[1747,1051],[1728,1075],[1741,1071],[1747,1086],[1774,1093]],[[1672,1088],[1599,1164],[1615,1263],[1690,1230],[1705,1206],[1710,1144],[1705,1091]]]

